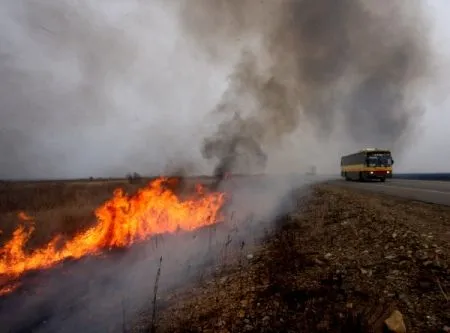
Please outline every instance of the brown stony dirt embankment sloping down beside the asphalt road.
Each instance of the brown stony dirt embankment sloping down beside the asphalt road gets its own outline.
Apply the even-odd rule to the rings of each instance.
[[[158,332],[378,332],[394,309],[408,332],[450,326],[450,208],[321,185],[298,210],[160,300]]]

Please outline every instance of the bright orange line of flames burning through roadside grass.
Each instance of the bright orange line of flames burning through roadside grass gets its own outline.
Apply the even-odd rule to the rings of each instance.
[[[16,285],[11,282],[27,271],[49,268],[68,258],[128,247],[157,234],[192,231],[220,219],[223,193],[206,193],[197,186],[194,196],[182,200],[170,185],[171,180],[159,178],[132,196],[116,189],[113,197],[95,210],[97,223],[93,227],[63,245],[57,236],[31,252],[25,251],[25,246],[35,228],[33,219],[20,213],[19,218],[27,221],[27,227],[19,226],[11,240],[0,248],[0,278],[9,283],[9,287],[0,285],[0,294],[14,290]]]

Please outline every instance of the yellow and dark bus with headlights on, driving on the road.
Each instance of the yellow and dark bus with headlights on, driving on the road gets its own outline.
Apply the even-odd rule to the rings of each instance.
[[[366,148],[341,157],[341,176],[345,180],[371,180],[382,182],[392,178],[394,160],[390,150]]]

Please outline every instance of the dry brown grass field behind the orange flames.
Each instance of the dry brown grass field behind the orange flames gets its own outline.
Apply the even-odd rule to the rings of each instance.
[[[32,216],[36,230],[28,246],[37,247],[55,234],[72,236],[95,222],[94,210],[114,189],[135,192],[142,184],[126,180],[0,183],[0,245],[10,239],[23,211]]]

